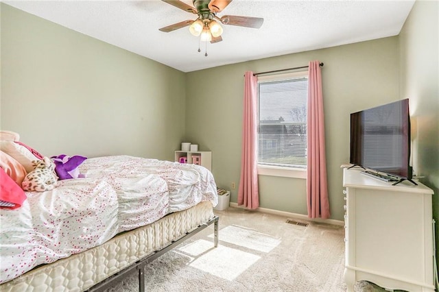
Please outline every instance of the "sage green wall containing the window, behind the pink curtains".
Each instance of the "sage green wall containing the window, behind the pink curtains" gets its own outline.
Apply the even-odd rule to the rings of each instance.
[[[187,73],[187,141],[212,151],[217,184],[239,182],[244,73],[324,62],[322,86],[331,219],[342,220],[342,169],[349,161],[349,117],[400,99],[398,37],[306,51]],[[259,175],[262,208],[307,214],[306,182]],[[237,189],[232,190],[237,202]]]

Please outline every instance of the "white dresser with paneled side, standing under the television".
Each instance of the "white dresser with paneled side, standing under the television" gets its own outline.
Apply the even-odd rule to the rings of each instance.
[[[358,280],[385,289],[434,291],[433,191],[418,183],[392,186],[343,170],[348,291]]]

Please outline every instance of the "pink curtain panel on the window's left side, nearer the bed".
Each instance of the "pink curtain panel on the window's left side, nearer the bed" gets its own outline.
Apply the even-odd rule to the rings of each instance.
[[[244,87],[244,119],[242,127],[241,179],[238,205],[259,207],[257,170],[257,77],[247,71]]]

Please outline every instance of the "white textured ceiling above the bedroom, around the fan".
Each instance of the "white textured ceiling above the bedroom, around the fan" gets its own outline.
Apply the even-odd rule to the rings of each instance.
[[[192,5],[191,0],[182,1]],[[4,2],[183,72],[395,36],[414,4],[414,0],[233,0],[217,16],[263,17],[262,27],[223,25],[223,41],[202,42],[198,53],[199,38],[188,27],[158,31],[196,19],[161,0]]]

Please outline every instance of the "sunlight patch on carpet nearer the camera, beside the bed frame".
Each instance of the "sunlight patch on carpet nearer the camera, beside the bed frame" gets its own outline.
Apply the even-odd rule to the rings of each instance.
[[[200,269],[213,276],[232,281],[251,265],[257,262],[260,256],[218,245],[212,247],[211,241],[202,239],[180,247],[178,250],[195,257],[190,267]]]

